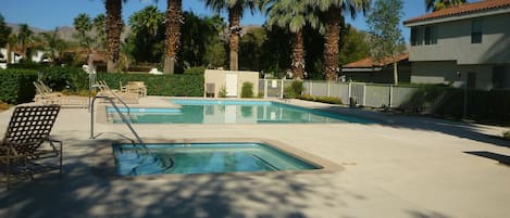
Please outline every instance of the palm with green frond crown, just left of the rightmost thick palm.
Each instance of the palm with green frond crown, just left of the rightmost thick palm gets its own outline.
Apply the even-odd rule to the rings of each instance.
[[[307,24],[316,28],[319,18],[307,0],[265,0],[261,8],[269,2],[273,4],[268,8],[268,24],[287,28],[293,35],[290,68],[294,79],[300,80],[304,75],[303,28]]]

